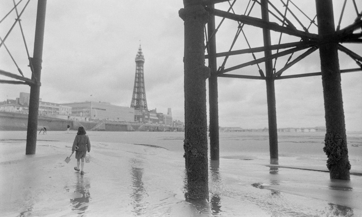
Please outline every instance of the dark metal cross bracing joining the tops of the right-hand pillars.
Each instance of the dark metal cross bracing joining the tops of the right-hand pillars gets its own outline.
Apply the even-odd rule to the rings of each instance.
[[[230,34],[228,37],[230,39],[227,41],[230,44],[229,48],[227,48],[225,40],[222,43],[216,41],[218,50],[228,49],[228,51],[223,50],[223,52],[215,54],[220,63],[217,69],[218,77],[278,80],[321,75],[321,72],[295,73],[298,70],[290,70],[287,72],[288,75],[285,75],[287,69],[293,69],[293,66],[313,54],[318,50],[318,45],[325,41],[325,39],[320,39],[317,34],[315,1],[266,0],[266,2],[270,21],[261,18],[260,10],[265,7],[261,4],[261,0],[233,0],[215,4],[215,8],[219,9],[206,5],[206,11],[210,15],[219,17],[220,20],[214,32],[205,31],[208,34],[206,35],[206,50],[209,48],[209,38],[215,35],[216,40],[218,38],[224,40],[227,35],[220,32],[224,30],[230,34],[230,30],[232,30],[230,26],[233,25],[230,21],[235,23],[236,30],[234,31],[236,33],[233,37]],[[341,13],[336,33],[330,37],[339,42],[338,50],[348,55],[356,63],[356,68],[341,66],[341,73],[361,71],[361,47],[358,46],[362,43],[362,4],[356,3],[355,0],[334,1],[333,3],[335,3],[334,8],[341,8]],[[344,13],[346,8],[353,13],[346,16]],[[341,27],[342,21],[345,26]],[[223,28],[224,25],[226,28]],[[263,28],[271,30],[271,38],[274,43],[270,46],[261,44]],[[218,37],[220,34],[222,37]],[[346,45],[342,45],[342,43]],[[354,46],[354,44],[358,44],[358,46]],[[272,54],[264,56],[266,50],[271,51]],[[208,59],[209,56],[207,54],[205,58]],[[234,56],[237,58],[229,60]],[[273,60],[273,71],[268,76],[260,64],[269,60]],[[242,63],[240,64],[240,62]]]

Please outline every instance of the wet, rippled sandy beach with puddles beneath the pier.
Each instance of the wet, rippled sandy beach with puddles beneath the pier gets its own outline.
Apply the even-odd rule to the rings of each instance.
[[[71,154],[76,131],[0,132],[0,215],[169,217],[362,217],[362,132],[347,132],[350,180],[331,180],[324,132],[220,132],[209,161],[209,199],[187,199],[184,132],[87,131],[84,175]],[[210,144],[210,142],[209,142]]]

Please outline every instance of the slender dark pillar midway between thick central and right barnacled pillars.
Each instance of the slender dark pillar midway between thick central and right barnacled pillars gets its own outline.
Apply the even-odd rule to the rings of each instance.
[[[261,17],[269,21],[268,1],[261,0]],[[271,45],[270,30],[263,29],[264,46]],[[271,50],[264,51],[265,56],[271,55]],[[275,88],[273,79],[273,62],[265,61],[266,73],[266,100],[268,102],[268,123],[269,123],[269,152],[270,159],[278,159],[278,129],[277,109],[275,108]]]

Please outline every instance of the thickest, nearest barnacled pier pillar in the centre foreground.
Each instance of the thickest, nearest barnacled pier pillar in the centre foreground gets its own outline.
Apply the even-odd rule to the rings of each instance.
[[[188,197],[209,198],[207,156],[206,79],[204,26],[209,20],[197,0],[184,0],[179,16],[184,20],[185,167]]]

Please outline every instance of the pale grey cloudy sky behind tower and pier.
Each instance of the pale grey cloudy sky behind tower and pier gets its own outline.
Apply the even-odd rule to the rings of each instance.
[[[18,0],[16,1],[18,2]],[[248,1],[238,0],[235,13],[244,14]],[[275,1],[277,2],[277,1]],[[279,1],[278,1],[279,2]],[[298,7],[313,19],[315,1],[296,1]],[[19,13],[26,1],[21,2]],[[336,26],[343,1],[334,0]],[[2,0],[0,16],[3,18],[13,7],[12,0]],[[358,11],[362,10],[357,1]],[[228,3],[216,5],[227,10]],[[279,5],[280,6],[280,5]],[[30,1],[25,9],[21,24],[30,56],[33,56],[34,31],[37,1]],[[144,79],[148,109],[167,113],[172,108],[173,119],[184,120],[184,53],[183,21],[178,10],[183,8],[181,0],[48,0],[41,72],[42,101],[67,103],[79,101],[102,101],[113,105],[130,107],[135,76],[135,61],[141,44],[145,58]],[[283,7],[279,7],[284,13]],[[294,8],[295,15],[304,26],[310,20]],[[260,7],[255,5],[252,13],[260,17]],[[287,17],[299,30],[302,27],[287,13]],[[356,17],[352,1],[348,1],[341,28],[352,24]],[[13,11],[0,24],[0,36],[5,38],[12,26],[16,13]],[[278,22],[273,17],[271,21]],[[216,18],[216,25],[220,18]],[[224,21],[220,27],[217,51],[230,49],[237,31],[237,22]],[[244,33],[251,47],[262,46],[260,29],[244,26]],[[311,33],[317,33],[314,25]],[[272,32],[272,44],[279,41],[279,33]],[[281,43],[297,42],[298,38],[283,35]],[[28,58],[20,27],[16,25],[5,44],[26,77],[30,77]],[[355,53],[362,54],[361,44],[343,44]],[[232,50],[247,48],[240,34]],[[273,51],[274,53],[275,51]],[[292,59],[304,51],[295,53]],[[257,58],[262,53],[255,54]],[[289,57],[289,56],[288,56]],[[357,68],[357,64],[339,52],[340,68]],[[218,58],[218,66],[223,62]],[[231,56],[226,67],[252,60],[252,55]],[[286,63],[278,58],[276,70]],[[207,65],[207,60],[206,60]],[[265,71],[264,64],[259,67]],[[18,74],[17,68],[4,46],[0,48],[0,69]],[[283,75],[320,72],[319,51],[295,64]],[[230,72],[230,74],[258,75],[253,65]],[[362,73],[344,73],[342,94],[346,129],[362,130]],[[9,78],[0,76],[0,79]],[[207,86],[208,89],[208,86]],[[265,81],[240,78],[218,79],[219,125],[222,127],[264,128],[268,126]],[[15,99],[20,92],[30,92],[25,85],[0,85],[0,101]],[[292,78],[275,81],[278,128],[315,127],[325,125],[323,88],[321,76]],[[209,107],[207,105],[207,107]]]

